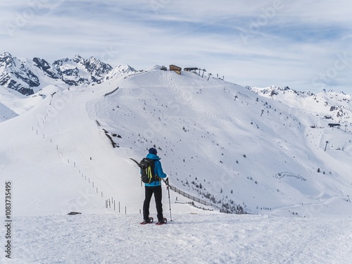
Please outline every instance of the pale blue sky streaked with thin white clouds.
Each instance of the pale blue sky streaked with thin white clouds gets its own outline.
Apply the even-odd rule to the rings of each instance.
[[[352,94],[349,0],[1,0],[0,54],[205,68],[251,87]]]

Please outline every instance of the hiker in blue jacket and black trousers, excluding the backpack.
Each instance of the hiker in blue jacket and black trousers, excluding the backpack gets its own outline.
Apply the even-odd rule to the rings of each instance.
[[[163,225],[164,217],[163,217],[163,203],[161,203],[162,199],[162,190],[161,190],[161,178],[165,178],[167,175],[163,172],[163,168],[161,167],[160,158],[157,156],[158,151],[156,149],[149,149],[149,153],[146,155],[146,158],[150,158],[154,161],[154,173],[157,175],[156,180],[144,185],[145,189],[145,199],[143,203],[143,222],[142,225],[151,222],[149,218],[149,204],[151,201],[151,196],[154,194],[154,199],[156,203],[156,212],[158,214],[158,222],[156,225]]]

